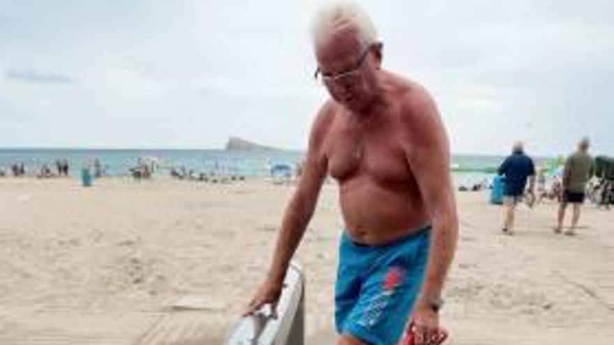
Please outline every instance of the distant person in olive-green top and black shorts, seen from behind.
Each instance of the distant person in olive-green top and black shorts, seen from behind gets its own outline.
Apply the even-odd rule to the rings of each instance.
[[[557,226],[554,229],[555,233],[561,233],[567,204],[573,204],[574,215],[571,217],[571,227],[568,231],[565,231],[565,234],[570,236],[576,234],[576,227],[578,226],[578,220],[580,220],[581,207],[584,203],[586,184],[594,174],[594,161],[588,153],[589,147],[590,140],[588,138],[583,138],[578,143],[578,151],[565,160],[562,181],[562,201],[559,206]]]

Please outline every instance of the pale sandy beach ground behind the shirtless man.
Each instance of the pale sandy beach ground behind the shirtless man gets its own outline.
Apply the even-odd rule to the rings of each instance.
[[[292,190],[0,178],[0,344],[220,344],[264,276]],[[521,206],[510,237],[486,192],[457,199],[448,344],[612,344],[614,211],[586,206],[570,238],[552,231],[555,204]],[[334,339],[342,224],[336,186],[325,185],[297,254],[308,344]],[[197,308],[174,306],[186,296]],[[163,322],[168,334],[153,335]]]

